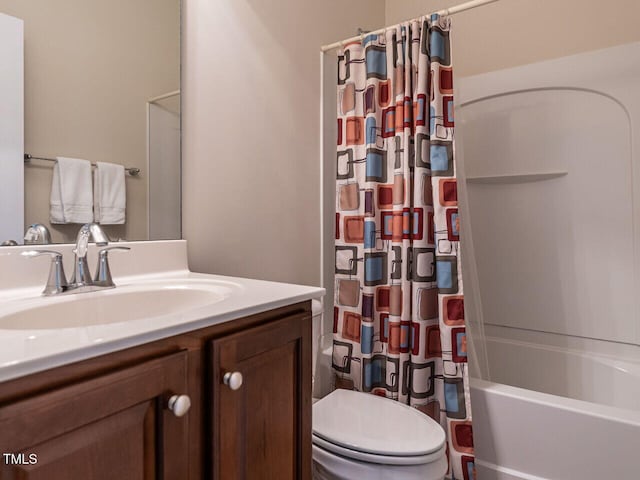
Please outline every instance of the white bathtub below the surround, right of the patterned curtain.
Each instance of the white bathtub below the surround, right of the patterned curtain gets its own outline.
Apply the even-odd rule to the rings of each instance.
[[[479,480],[640,478],[640,361],[494,336],[486,348],[492,381],[470,382]]]

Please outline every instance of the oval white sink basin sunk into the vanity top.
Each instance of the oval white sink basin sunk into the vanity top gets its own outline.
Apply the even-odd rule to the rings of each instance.
[[[77,328],[181,314],[223,301],[234,286],[226,282],[150,282],[21,300],[0,310],[0,329]]]

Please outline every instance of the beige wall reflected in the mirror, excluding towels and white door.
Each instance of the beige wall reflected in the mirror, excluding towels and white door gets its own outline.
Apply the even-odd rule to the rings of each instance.
[[[25,229],[40,223],[53,243],[75,241],[78,224],[50,223],[55,162],[45,160],[72,157],[139,169],[125,175],[125,223],[104,226],[112,240],[181,237],[180,7],[0,0],[0,13],[23,25],[23,153],[43,158],[24,161],[24,212],[13,213]]]

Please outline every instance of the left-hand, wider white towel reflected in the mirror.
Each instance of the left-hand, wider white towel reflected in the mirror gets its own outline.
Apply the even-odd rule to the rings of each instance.
[[[51,223],[93,221],[91,163],[58,157],[53,166],[49,216]]]

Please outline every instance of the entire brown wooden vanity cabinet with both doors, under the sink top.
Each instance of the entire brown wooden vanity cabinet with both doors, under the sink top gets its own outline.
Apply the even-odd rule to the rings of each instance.
[[[0,480],[310,479],[310,302],[0,383],[3,453]]]

